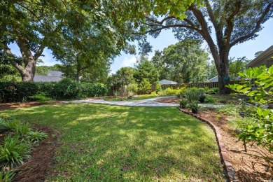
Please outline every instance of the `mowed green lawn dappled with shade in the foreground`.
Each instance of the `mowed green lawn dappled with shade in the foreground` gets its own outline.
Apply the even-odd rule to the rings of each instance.
[[[225,181],[214,132],[176,108],[62,104],[0,116],[59,131],[50,181]]]

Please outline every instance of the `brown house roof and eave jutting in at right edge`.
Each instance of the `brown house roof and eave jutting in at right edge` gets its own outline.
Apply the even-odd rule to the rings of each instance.
[[[267,50],[262,52],[260,55],[255,57],[251,62],[246,64],[246,67],[257,67],[265,65],[267,68],[273,64],[273,45],[271,45]]]

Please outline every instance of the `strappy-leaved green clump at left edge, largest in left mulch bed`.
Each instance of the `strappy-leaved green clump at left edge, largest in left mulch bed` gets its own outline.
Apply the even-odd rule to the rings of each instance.
[[[24,160],[31,158],[31,144],[23,142],[19,137],[8,135],[0,145],[0,164],[3,169],[13,165],[23,165]]]

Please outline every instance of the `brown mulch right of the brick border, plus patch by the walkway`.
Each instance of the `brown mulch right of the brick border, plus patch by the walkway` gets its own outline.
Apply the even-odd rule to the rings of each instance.
[[[177,98],[162,98],[157,99],[156,102],[178,103],[178,100]],[[188,109],[185,110],[188,111]],[[225,147],[239,181],[273,181],[273,165],[262,158],[252,156],[260,156],[259,153],[263,153],[272,158],[272,153],[255,144],[247,144],[247,152],[245,152],[244,143],[238,141],[235,130],[228,123],[228,116],[213,110],[201,111],[197,115],[211,121],[221,130]]]

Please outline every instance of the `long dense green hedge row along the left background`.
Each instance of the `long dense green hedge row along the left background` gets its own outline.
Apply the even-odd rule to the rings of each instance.
[[[30,96],[41,92],[52,99],[75,99],[106,96],[108,89],[100,83],[77,83],[69,78],[57,83],[0,82],[0,103],[30,101]]]

